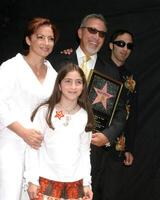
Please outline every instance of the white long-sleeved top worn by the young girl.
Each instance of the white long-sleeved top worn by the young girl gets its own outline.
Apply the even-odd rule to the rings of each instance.
[[[41,176],[61,182],[83,179],[83,185],[90,185],[91,132],[85,132],[87,112],[81,108],[71,115],[68,125],[65,126],[65,116],[58,119],[54,110],[53,130],[46,123],[46,110],[46,106],[41,107],[33,121],[34,128],[44,134],[44,141],[38,151],[30,146],[27,148],[25,171],[27,183],[39,185],[38,179]]]

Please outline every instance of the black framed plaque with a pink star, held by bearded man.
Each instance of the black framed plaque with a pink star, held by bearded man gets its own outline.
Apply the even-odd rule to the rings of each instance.
[[[95,129],[109,127],[123,88],[123,83],[93,70],[88,83],[88,95],[95,117]]]

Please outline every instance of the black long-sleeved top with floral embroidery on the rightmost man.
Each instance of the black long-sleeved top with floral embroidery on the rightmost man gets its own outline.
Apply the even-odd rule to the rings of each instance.
[[[117,67],[113,61],[109,63]],[[138,113],[138,99],[137,99],[137,80],[135,75],[131,73],[125,65],[117,67],[120,75],[120,79],[123,82],[123,90],[121,95],[123,96],[125,107],[128,110],[128,115],[126,118],[126,125],[121,134],[124,134],[126,139],[125,151],[134,151],[134,142],[137,130],[137,113]],[[118,140],[115,141],[115,143]]]

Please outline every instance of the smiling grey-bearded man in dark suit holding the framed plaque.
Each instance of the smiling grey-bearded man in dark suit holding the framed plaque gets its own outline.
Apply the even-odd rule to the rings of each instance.
[[[62,61],[71,61],[82,66],[83,57],[88,56],[87,61],[89,69],[95,69],[100,73],[120,80],[118,70],[107,64],[99,55],[105,37],[107,27],[104,17],[100,14],[90,14],[84,17],[78,29],[80,40],[79,47],[71,55],[61,54],[59,58],[54,57],[53,66],[58,69]],[[126,112],[122,101],[118,103],[112,123],[102,132],[96,132],[92,135],[91,164],[92,164],[92,188],[95,192],[97,177],[100,170],[101,156],[105,151],[105,146],[111,145],[115,138],[121,133],[125,124]]]

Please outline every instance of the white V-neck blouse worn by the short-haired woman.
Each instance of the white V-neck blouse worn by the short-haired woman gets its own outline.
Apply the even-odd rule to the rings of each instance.
[[[0,135],[21,139],[6,127],[18,121],[30,127],[32,111],[51,95],[57,72],[45,60],[47,74],[41,83],[21,54],[0,66]]]

